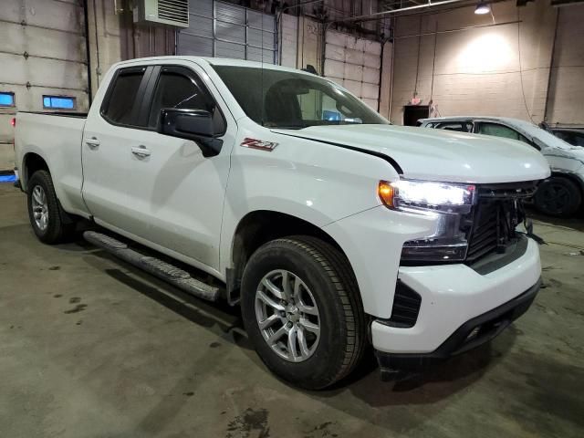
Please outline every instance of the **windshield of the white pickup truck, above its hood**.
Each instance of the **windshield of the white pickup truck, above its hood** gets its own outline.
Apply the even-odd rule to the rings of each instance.
[[[267,128],[388,124],[347,90],[318,76],[270,68],[213,68],[245,114]]]

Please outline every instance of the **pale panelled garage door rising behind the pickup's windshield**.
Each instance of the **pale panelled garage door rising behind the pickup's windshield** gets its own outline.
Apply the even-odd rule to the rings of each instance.
[[[373,110],[379,108],[381,43],[327,31],[325,76],[349,89]]]

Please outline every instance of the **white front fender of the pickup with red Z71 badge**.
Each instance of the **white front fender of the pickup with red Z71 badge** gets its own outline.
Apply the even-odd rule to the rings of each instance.
[[[236,144],[252,135],[244,130]],[[233,267],[235,231],[246,214],[267,210],[324,228],[381,205],[380,180],[399,178],[390,163],[360,151],[269,130],[261,140],[278,144],[273,151],[235,146],[232,154],[220,243],[223,273]]]

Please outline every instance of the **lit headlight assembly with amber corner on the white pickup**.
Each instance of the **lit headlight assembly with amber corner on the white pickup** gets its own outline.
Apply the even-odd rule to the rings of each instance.
[[[402,262],[462,261],[468,247],[467,236],[472,227],[475,186],[472,184],[433,183],[400,180],[381,181],[381,202],[392,210],[424,214],[436,219],[432,235],[405,242]]]

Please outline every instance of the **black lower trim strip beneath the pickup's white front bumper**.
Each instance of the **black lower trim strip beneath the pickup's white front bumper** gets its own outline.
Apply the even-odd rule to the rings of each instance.
[[[485,344],[494,339],[516,318],[519,318],[527,311],[533,303],[540,286],[541,279],[537,280],[535,285],[529,287],[518,297],[478,317],[467,320],[454,330],[454,333],[440,347],[432,352],[396,354],[376,350],[375,353],[381,371],[417,368],[428,365],[434,360],[448,359]]]

